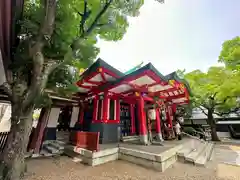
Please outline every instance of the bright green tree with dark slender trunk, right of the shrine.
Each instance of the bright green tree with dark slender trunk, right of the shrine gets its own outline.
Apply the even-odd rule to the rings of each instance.
[[[239,109],[239,76],[225,67],[211,67],[206,73],[195,70],[185,75],[193,92],[194,107],[202,109],[211,127],[213,141],[218,141],[214,114],[227,115]]]

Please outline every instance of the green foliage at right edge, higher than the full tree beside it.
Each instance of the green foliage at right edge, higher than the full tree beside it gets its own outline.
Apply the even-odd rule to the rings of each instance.
[[[240,37],[227,40],[222,45],[219,61],[227,67],[240,71]]]

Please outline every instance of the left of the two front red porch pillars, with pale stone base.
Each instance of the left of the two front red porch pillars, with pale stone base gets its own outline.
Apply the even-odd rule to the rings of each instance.
[[[147,144],[147,125],[146,125],[146,114],[144,111],[144,100],[140,96],[138,100],[138,118],[139,118],[139,135],[142,143]]]

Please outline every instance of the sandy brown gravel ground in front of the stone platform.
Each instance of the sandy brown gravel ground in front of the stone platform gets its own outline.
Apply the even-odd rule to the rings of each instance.
[[[28,162],[25,180],[240,180],[240,167],[209,163],[207,168],[175,163],[164,173],[125,161],[97,167],[75,163],[68,157],[33,159]]]

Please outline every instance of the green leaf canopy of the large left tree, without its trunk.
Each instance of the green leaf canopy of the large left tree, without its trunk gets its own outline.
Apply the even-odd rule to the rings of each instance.
[[[21,42],[11,66],[15,80],[30,84],[33,61],[29,55],[29,43],[39,34],[44,20],[42,0],[26,0],[21,23]],[[71,86],[78,71],[88,67],[98,55],[98,38],[107,41],[122,39],[128,28],[128,16],[137,16],[143,0],[61,0],[57,1],[53,34],[46,37],[44,63],[64,62],[49,76],[47,88],[59,89]],[[76,88],[75,88],[76,90]]]

